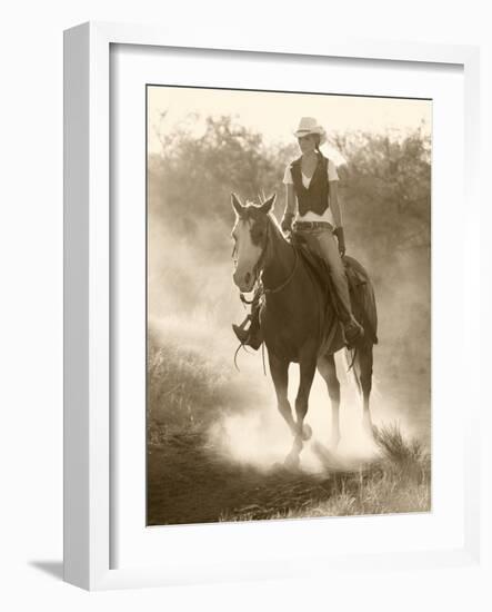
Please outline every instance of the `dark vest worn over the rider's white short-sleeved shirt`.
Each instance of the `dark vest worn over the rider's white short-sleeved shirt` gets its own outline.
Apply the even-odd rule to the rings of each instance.
[[[295,195],[298,196],[299,214],[305,215],[309,210],[322,215],[328,208],[330,186],[328,181],[328,158],[318,154],[318,166],[307,189],[302,184],[301,158],[290,166]]]

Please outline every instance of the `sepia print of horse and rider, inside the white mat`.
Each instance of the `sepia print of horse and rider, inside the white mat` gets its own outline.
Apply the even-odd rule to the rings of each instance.
[[[432,100],[148,85],[147,524],[432,507]]]

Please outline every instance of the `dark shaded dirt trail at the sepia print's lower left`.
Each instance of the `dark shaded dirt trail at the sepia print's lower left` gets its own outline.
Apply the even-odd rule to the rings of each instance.
[[[148,452],[148,524],[211,523],[278,512],[328,499],[342,474],[268,472],[231,463],[200,435],[173,435]]]

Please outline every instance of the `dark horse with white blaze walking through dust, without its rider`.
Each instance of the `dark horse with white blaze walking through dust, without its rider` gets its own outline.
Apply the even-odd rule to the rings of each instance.
[[[234,239],[233,279],[241,293],[249,293],[261,278],[264,290],[260,309],[261,330],[278,407],[294,436],[292,450],[285,461],[297,465],[302,443],[312,433],[311,427],[304,424],[304,417],[317,368],[327,382],[332,405],[331,445],[337,447],[339,443],[340,383],[334,353],[345,346],[342,328],[335,315],[327,277],[324,280],[321,277],[320,280],[315,267],[302,255],[302,248],[284,237],[270,214],[275,195],[259,206],[251,203],[243,206],[234,194],[231,199],[237,213],[231,233]],[[350,259],[359,270],[364,272],[360,264]],[[357,294],[352,298],[358,298],[361,306],[355,316],[364,326],[364,336],[350,356],[355,382],[363,395],[363,422],[371,432],[369,396],[372,384],[372,347],[376,342],[376,312],[369,277],[358,287]],[[288,398],[290,363],[299,363],[300,367],[295,419]]]

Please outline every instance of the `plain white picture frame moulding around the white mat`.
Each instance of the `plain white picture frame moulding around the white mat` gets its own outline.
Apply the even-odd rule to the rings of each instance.
[[[464,75],[464,161],[466,176],[464,199],[468,210],[476,211],[465,219],[464,239],[468,256],[478,257],[472,241],[480,219],[476,194],[479,149],[478,91],[479,51],[475,47],[412,45],[390,41],[330,39],[329,42],[285,41],[279,43],[229,39],[213,41],[223,55],[244,51],[305,57],[367,59],[392,62],[458,65]],[[279,559],[269,571],[258,564],[225,560],[222,565],[194,567],[139,565],[114,569],[111,565],[111,250],[110,236],[110,48],[112,45],[211,49],[205,30],[189,38],[149,26],[84,23],[64,32],[64,580],[78,586],[99,590],[131,586],[184,584],[220,580],[244,580],[294,575],[292,559]],[[472,259],[470,259],[472,260]],[[464,261],[463,261],[464,264]],[[476,351],[478,324],[470,313],[476,308],[474,289],[480,277],[471,275],[463,323],[466,348]],[[475,297],[474,297],[475,296]],[[475,302],[473,302],[475,300]],[[478,352],[478,351],[476,351]],[[470,566],[480,560],[480,447],[476,426],[481,406],[480,391],[472,391],[469,414],[463,427],[465,463],[464,526],[462,545],[425,552],[379,553],[338,556],[340,570],[371,563],[384,570],[433,566]],[[183,530],[187,527],[174,527]],[[214,526],[214,536],[221,535]],[[242,525],[242,530],[249,529]],[[174,540],[179,541],[179,531]],[[189,532],[188,532],[189,533]],[[223,535],[222,535],[223,537]],[[261,551],[260,551],[261,552]],[[260,554],[259,552],[259,554]],[[172,551],[171,551],[172,554]],[[254,561],[254,560],[253,560]],[[321,555],[307,571],[315,573],[323,564],[333,564]],[[318,567],[318,570],[317,570]]]

